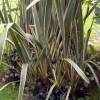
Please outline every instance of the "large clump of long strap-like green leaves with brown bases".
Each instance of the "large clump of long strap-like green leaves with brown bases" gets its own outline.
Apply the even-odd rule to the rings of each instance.
[[[80,79],[87,84],[90,83],[85,74],[87,67],[99,87],[98,78],[90,64],[96,65],[93,62],[95,55],[86,58],[92,25],[86,37],[83,30],[84,23],[96,4],[91,9],[87,9],[86,16],[83,18],[82,1],[34,0],[27,8],[24,6],[26,12],[30,9],[32,14],[32,23],[29,25],[24,22],[28,27],[22,27],[23,30],[15,23],[5,26],[4,34],[1,35],[4,39],[0,38],[2,41],[0,58],[5,41],[9,38],[21,59],[18,100],[22,100],[25,82],[31,85],[33,77],[41,79],[43,84],[47,84],[48,80],[51,81],[46,100],[49,100],[56,87],[61,88],[65,83],[68,86],[65,98],[68,100]],[[97,65],[96,67],[99,68]]]

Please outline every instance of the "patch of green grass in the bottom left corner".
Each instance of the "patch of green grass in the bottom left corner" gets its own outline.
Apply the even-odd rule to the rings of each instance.
[[[2,64],[0,65],[0,88],[4,85],[1,82],[1,79],[6,69],[7,69],[6,66]],[[2,91],[0,91],[0,100],[17,100],[17,97],[18,97],[18,88],[15,87],[13,84],[8,85]]]

